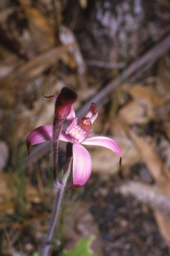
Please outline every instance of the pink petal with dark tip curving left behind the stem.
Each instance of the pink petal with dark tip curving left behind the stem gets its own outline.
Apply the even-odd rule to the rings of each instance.
[[[27,137],[27,149],[30,154],[30,147],[44,142],[52,140],[52,125],[43,125],[32,131]]]

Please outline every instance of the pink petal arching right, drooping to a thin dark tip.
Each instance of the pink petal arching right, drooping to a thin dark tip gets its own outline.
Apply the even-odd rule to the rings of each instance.
[[[120,155],[120,166],[122,164],[122,153],[120,151],[120,148],[116,144],[116,142],[113,139],[110,139],[108,137],[92,137],[89,139],[85,139],[85,141],[82,143],[84,145],[95,145],[95,146],[102,146],[106,147],[107,149],[111,149],[118,155]]]

